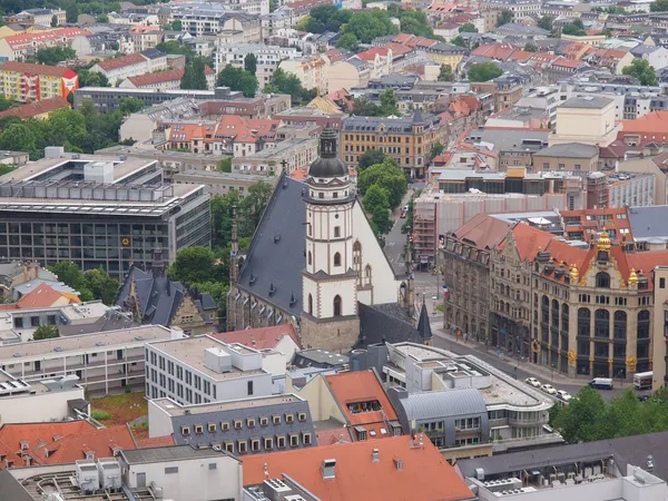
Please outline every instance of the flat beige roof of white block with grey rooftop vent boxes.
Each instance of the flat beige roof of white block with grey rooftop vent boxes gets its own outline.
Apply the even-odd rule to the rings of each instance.
[[[219,373],[216,371],[212,371],[204,364],[205,350],[222,348],[223,346],[226,346],[226,344],[222,341],[215,340],[209,336],[197,336],[186,337],[183,340],[163,341],[158,343],[150,343],[150,345],[151,347],[183,362],[184,364],[189,365],[195,371],[198,371],[199,373],[205,374],[215,381],[225,381],[233,380],[236,377],[247,377],[258,374],[268,374],[262,369],[253,371],[242,371],[238,367],[235,367],[234,365],[232,366],[232,370],[229,372]],[[232,346],[233,348],[244,354],[244,352],[238,350],[237,346]]]

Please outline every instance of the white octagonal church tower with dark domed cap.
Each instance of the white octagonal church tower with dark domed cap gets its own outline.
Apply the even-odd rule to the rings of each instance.
[[[302,342],[305,346],[348,351],[360,335],[357,273],[353,269],[353,205],[347,168],[336,151],[337,135],[321,135],[321,157],[308,169],[306,266]]]

